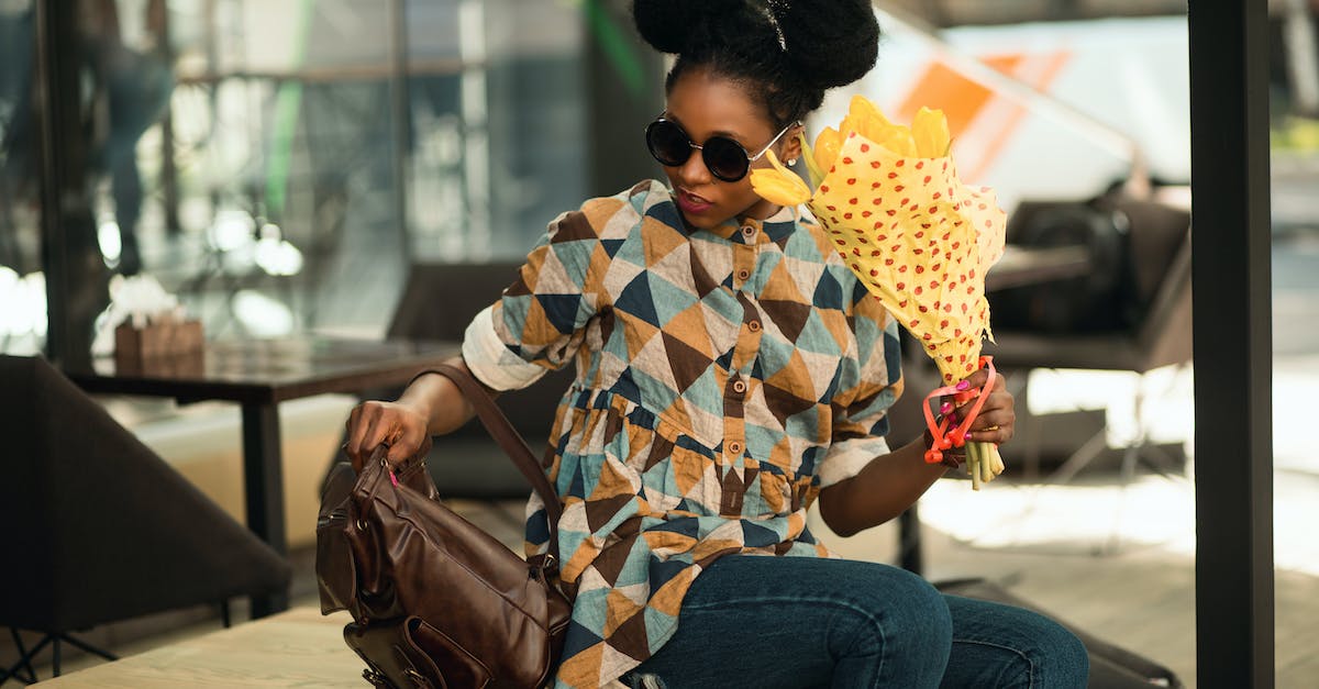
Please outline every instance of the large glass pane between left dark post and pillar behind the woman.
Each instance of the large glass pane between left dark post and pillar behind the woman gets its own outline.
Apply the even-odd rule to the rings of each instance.
[[[111,4],[127,25],[150,3]],[[168,61],[125,73],[160,74],[169,103],[128,136],[140,203],[98,187],[98,207],[210,337],[380,335],[410,263],[521,257],[584,195],[570,4],[168,8]],[[162,45],[136,25],[123,34]]]

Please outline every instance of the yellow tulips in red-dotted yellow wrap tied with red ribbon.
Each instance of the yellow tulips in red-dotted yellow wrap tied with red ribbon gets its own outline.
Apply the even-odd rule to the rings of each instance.
[[[814,147],[803,137],[802,148],[814,193],[773,152],[772,168],[751,173],[756,193],[785,206],[806,203],[852,272],[922,343],[946,385],[973,372],[981,339],[992,338],[984,273],[1002,256],[1006,215],[991,189],[958,180],[943,112],[921,108],[909,128],[857,95],[838,129],[826,128]],[[962,447],[958,433],[942,429],[926,459]],[[1002,473],[1002,458],[992,443],[971,445],[985,445],[967,453],[979,490]]]

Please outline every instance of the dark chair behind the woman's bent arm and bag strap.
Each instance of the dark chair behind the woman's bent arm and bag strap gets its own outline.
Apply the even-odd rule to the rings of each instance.
[[[460,342],[472,317],[513,284],[521,265],[521,261],[413,265],[388,337]],[[572,367],[551,371],[533,385],[504,392],[496,400],[533,450],[547,442],[559,397],[572,379]],[[401,392],[373,391],[368,397],[396,399]],[[342,461],[340,453],[327,470]],[[426,466],[445,498],[491,500],[530,495],[526,479],[476,420],[437,437]]]

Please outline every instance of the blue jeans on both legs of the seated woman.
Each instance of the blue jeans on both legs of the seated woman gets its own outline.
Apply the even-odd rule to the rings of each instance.
[[[636,688],[1086,686],[1075,635],[873,562],[728,556],[696,577]]]

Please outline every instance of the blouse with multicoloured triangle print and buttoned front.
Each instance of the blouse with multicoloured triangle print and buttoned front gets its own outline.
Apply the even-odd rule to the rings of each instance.
[[[720,556],[830,557],[807,507],[889,451],[897,322],[798,213],[689,231],[641,182],[550,223],[468,326],[463,356],[492,388],[576,366],[545,466],[576,591],[555,686],[650,657]],[[533,494],[528,554],[547,541]]]

